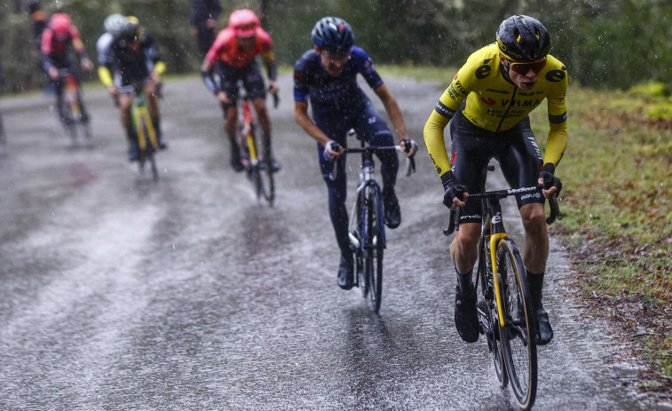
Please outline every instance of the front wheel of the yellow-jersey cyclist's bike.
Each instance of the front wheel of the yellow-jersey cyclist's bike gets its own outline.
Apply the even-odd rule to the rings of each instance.
[[[502,281],[502,352],[518,406],[530,409],[536,398],[537,345],[525,266],[516,244],[508,237],[499,241],[496,253]]]

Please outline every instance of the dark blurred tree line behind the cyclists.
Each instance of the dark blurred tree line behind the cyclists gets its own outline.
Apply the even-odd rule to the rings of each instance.
[[[6,87],[43,85],[31,52],[31,27],[21,1],[0,3],[0,59]],[[138,16],[160,43],[172,73],[200,65],[189,34],[189,0],[42,0],[47,12],[68,12],[95,54],[108,14]],[[537,17],[549,28],[551,53],[573,83],[628,88],[656,80],[672,89],[672,2],[669,0],[221,0],[223,28],[236,8],[258,12],[273,36],[279,62],[293,65],[312,46],[310,32],[325,15],[348,20],[355,42],[377,63],[458,67],[471,51],[494,41],[499,23],[513,13]],[[618,16],[618,17],[617,17]]]

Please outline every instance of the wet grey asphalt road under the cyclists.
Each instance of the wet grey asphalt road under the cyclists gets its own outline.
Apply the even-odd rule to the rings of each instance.
[[[387,83],[423,147],[441,87]],[[0,409],[516,409],[483,339],[455,332],[447,210],[424,148],[399,177],[403,220],[387,234],[375,315],[359,289],[336,286],[327,191],[289,75],[271,111],[284,166],[273,209],[230,169],[201,82],[169,81],[164,95],[158,184],[125,161],[104,91],[84,96],[93,146],[71,145],[51,97],[0,100]],[[552,248],[556,338],[540,349],[535,409],[652,409],[622,386],[636,370],[607,366],[598,326],[565,301],[568,266]]]

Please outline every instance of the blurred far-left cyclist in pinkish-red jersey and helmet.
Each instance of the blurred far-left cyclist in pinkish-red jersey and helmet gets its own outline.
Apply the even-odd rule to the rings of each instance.
[[[56,87],[56,107],[59,109],[59,117],[63,119],[63,114],[60,112],[62,99],[62,83],[59,81],[59,70],[67,69],[77,78],[77,69],[75,64],[70,59],[70,48],[75,49],[79,54],[80,64],[85,71],[93,69],[93,63],[84,50],[82,38],[79,36],[79,30],[75,28],[70,21],[70,16],[66,13],[55,13],[49,20],[49,27],[44,28],[42,33],[42,67],[49,75],[51,83]],[[79,81],[79,79],[77,79]],[[86,109],[81,105],[82,118],[86,122],[89,115]]]

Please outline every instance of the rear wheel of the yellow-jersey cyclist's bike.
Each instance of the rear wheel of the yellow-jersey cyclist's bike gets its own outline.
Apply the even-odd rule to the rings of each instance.
[[[499,327],[499,317],[494,298],[494,284],[492,271],[489,269],[489,257],[486,255],[486,238],[481,236],[478,249],[478,271],[474,280],[474,287],[478,288],[480,282],[483,300],[478,302],[478,322],[484,331],[487,340],[487,349],[493,360],[494,374],[502,388],[509,383],[509,375],[506,373],[502,352],[502,339]]]

